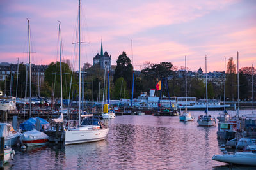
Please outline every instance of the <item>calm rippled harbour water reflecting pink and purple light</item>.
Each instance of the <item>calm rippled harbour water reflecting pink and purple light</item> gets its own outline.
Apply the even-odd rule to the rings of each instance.
[[[249,111],[249,110],[247,110]],[[195,115],[204,111],[191,111]],[[217,117],[219,111],[209,111]],[[230,111],[230,113],[232,113]],[[242,110],[245,114],[246,110]],[[247,112],[248,113],[248,112]],[[252,113],[252,111],[250,111]],[[232,113],[235,114],[235,113]],[[221,154],[217,127],[198,127],[179,117],[118,116],[106,140],[67,146],[45,146],[20,152],[6,169],[229,169],[212,160]],[[253,167],[232,166],[233,169]],[[254,167],[255,168],[255,167]]]

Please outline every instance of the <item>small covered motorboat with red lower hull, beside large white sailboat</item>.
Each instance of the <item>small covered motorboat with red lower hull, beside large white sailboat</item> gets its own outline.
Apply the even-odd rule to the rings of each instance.
[[[20,136],[20,140],[26,146],[40,146],[48,143],[48,136],[43,132],[33,129],[31,131],[24,132]]]

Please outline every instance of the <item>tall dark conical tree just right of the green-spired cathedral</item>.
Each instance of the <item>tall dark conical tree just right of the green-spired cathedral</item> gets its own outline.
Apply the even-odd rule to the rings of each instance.
[[[118,60],[116,60],[116,69],[113,78],[113,82],[115,83],[116,80],[120,77],[123,77],[125,82],[127,83],[127,87],[131,90],[132,87],[132,64],[129,57],[127,57],[126,53],[123,52],[119,55]]]

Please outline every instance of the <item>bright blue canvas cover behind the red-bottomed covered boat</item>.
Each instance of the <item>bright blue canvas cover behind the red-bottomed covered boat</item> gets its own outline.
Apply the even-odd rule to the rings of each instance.
[[[40,120],[40,125],[41,125],[41,127],[44,126],[44,129],[48,129],[50,127],[49,122],[47,122],[43,118],[33,117],[33,118],[29,118],[26,122],[20,124],[20,129],[22,131],[31,131],[31,130],[35,129],[36,128],[36,119]]]

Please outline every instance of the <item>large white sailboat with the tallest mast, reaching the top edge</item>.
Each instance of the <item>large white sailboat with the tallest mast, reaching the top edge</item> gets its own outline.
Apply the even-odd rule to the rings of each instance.
[[[81,1],[79,0],[79,125],[65,131],[65,145],[100,141],[106,138],[109,128],[92,115],[83,115],[81,122]]]

